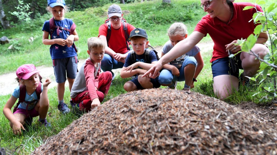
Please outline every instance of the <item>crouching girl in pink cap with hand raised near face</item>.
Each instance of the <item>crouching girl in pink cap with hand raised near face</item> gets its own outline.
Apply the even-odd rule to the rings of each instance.
[[[50,127],[46,116],[49,108],[49,100],[47,96],[47,87],[51,83],[50,78],[46,78],[43,85],[41,84],[41,76],[33,64],[24,64],[17,71],[17,86],[5,104],[3,113],[10,121],[10,127],[14,134],[21,134],[21,128],[25,130],[26,124],[31,126],[33,117],[39,116],[39,122],[45,127]],[[41,88],[41,89],[39,89]],[[21,100],[23,96],[23,100]],[[25,96],[25,97],[24,97]],[[15,106],[14,111],[11,108],[19,98],[19,105]]]

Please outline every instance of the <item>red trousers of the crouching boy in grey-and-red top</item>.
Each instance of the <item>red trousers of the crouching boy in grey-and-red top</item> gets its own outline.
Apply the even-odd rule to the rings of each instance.
[[[108,91],[112,82],[112,73],[107,71],[99,75],[98,78],[98,91],[96,91],[99,101],[104,100],[104,95],[108,94]],[[91,110],[92,99],[90,98],[90,93],[88,90],[78,93],[75,98],[71,98],[74,103],[79,103],[80,110],[85,110],[86,112]]]

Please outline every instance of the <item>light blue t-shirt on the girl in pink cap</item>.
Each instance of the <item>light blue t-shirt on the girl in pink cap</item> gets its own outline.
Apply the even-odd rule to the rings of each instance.
[[[41,84],[41,92],[43,90],[43,84]],[[13,91],[13,97],[15,98],[19,98],[19,95],[20,95],[20,90],[19,90],[19,86],[17,86],[14,91]],[[32,93],[32,95],[28,95],[27,91],[26,91],[26,96],[25,96],[25,101],[28,101],[28,102],[31,102],[31,101],[34,101],[34,100],[37,100],[38,97],[36,95],[36,91],[34,91],[34,93]],[[31,110],[33,109],[36,104],[38,103],[38,101],[35,101],[35,102],[31,102],[28,104],[28,110]],[[21,102],[18,106],[19,109],[26,109],[26,106],[27,104],[25,102]]]

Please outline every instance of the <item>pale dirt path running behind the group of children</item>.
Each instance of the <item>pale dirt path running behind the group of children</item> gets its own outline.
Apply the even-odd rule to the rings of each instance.
[[[199,48],[201,49],[201,53],[203,55],[207,51],[211,51],[213,49],[213,42],[199,43],[197,44],[197,46],[199,46]],[[155,49],[160,53],[162,46],[157,46],[155,47]],[[78,63],[78,68],[83,64],[84,60],[79,61],[80,62]],[[46,77],[50,77],[52,79],[52,83],[49,85],[48,88],[52,88],[57,85],[53,67],[38,66],[37,69],[41,71],[40,74],[43,77],[43,79],[45,79]],[[116,71],[114,73],[119,72]],[[13,92],[16,86],[18,86],[18,83],[16,82],[15,78],[16,75],[14,72],[0,75],[0,95],[8,95]],[[66,82],[66,84],[68,83]]]

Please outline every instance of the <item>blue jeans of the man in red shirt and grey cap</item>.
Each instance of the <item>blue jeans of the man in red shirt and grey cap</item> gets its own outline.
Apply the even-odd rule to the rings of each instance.
[[[113,75],[112,69],[122,68],[124,63],[116,61],[113,57],[108,54],[104,54],[104,58],[101,61],[101,69],[105,71],[110,71]]]

